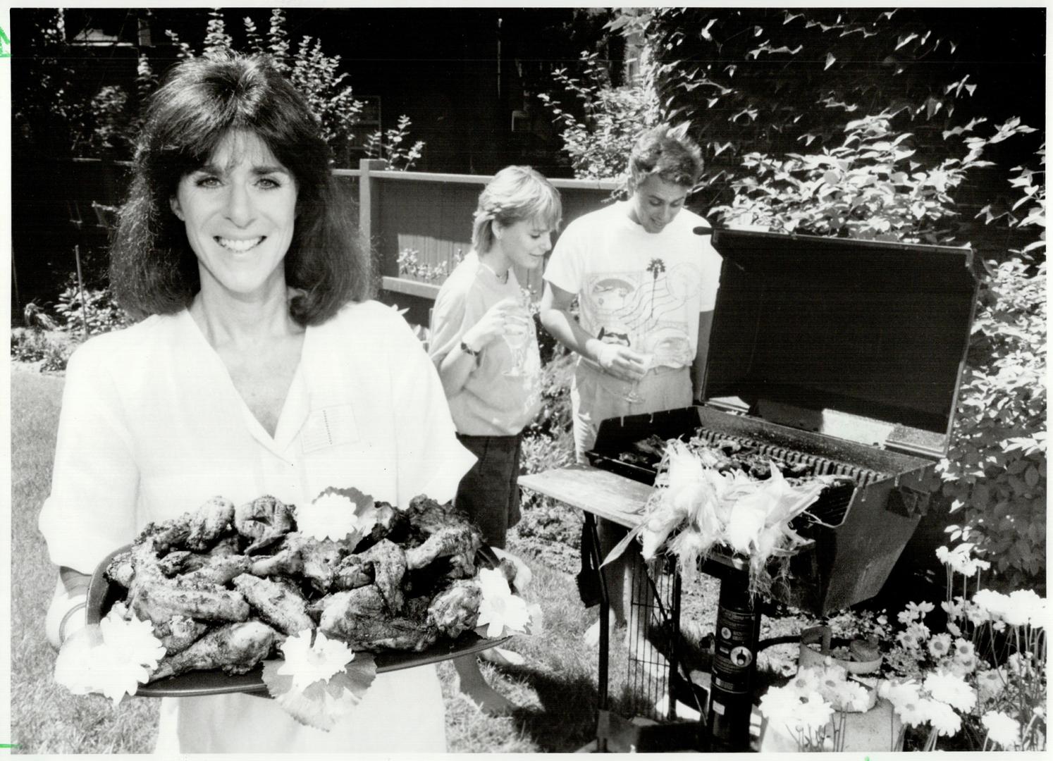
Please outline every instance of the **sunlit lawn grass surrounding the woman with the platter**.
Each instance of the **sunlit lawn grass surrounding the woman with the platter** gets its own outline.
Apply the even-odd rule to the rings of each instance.
[[[56,572],[37,516],[49,490],[61,393],[61,378],[13,364],[11,742],[23,754],[148,753],[157,736],[156,700],[125,699],[115,708],[101,696],[72,696],[52,679],[55,653],[43,622]],[[510,548],[522,549],[514,543]],[[523,665],[482,666],[495,688],[521,707],[503,718],[482,715],[458,697],[453,666],[440,664],[453,753],[572,752],[594,735],[597,655],[581,635],[595,610],[582,607],[572,576],[525,559],[534,570],[526,597],[541,604],[544,630],[511,643],[524,656]],[[610,688],[615,709],[628,670],[624,648],[616,642]]]

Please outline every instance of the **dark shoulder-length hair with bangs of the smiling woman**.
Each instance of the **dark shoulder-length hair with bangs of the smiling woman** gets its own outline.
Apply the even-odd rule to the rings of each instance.
[[[317,119],[265,56],[230,56],[178,64],[150,101],[112,247],[111,285],[120,305],[136,318],[172,314],[200,289],[197,258],[170,199],[231,131],[254,133],[296,179],[296,226],[284,262],[285,282],[297,289],[290,316],[314,325],[367,298],[370,260]]]

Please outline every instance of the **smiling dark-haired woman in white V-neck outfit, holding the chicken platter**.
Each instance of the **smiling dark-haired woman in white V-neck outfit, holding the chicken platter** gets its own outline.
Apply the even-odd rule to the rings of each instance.
[[[265,59],[184,62],[153,97],[112,264],[144,319],[72,357],[40,515],[59,609],[147,522],[215,495],[454,497],[474,458],[409,325],[366,299],[346,218],[306,102]],[[53,619],[77,646],[76,616]],[[329,733],[224,694],[162,699],[158,735],[180,753],[445,749],[434,666],[377,675]]]

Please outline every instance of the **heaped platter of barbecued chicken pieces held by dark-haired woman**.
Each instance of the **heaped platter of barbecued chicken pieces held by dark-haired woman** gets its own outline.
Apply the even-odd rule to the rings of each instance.
[[[270,496],[216,497],[150,523],[97,567],[88,623],[115,606],[151,622],[165,655],[144,697],[265,694],[263,662],[304,630],[375,654],[378,673],[508,639],[475,632],[477,575],[498,569],[512,583],[516,566],[463,512],[423,496],[408,509],[369,502],[369,522],[342,539],[300,530],[297,508]]]

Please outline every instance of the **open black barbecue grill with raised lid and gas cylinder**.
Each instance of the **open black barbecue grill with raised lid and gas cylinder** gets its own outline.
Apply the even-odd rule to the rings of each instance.
[[[867,600],[938,484],[976,298],[972,252],[744,231],[717,231],[713,245],[723,266],[703,404],[602,421],[589,461],[653,484],[657,460],[637,443],[697,437],[834,476],[810,508],[818,521],[794,525],[812,542],[772,594],[820,616]],[[742,559],[702,569],[721,578],[709,728],[715,747],[740,749],[760,614]],[[653,606],[675,643],[679,585],[650,583],[634,605]],[[631,664],[645,660],[631,653]],[[675,648],[669,661],[669,689],[682,694]]]

